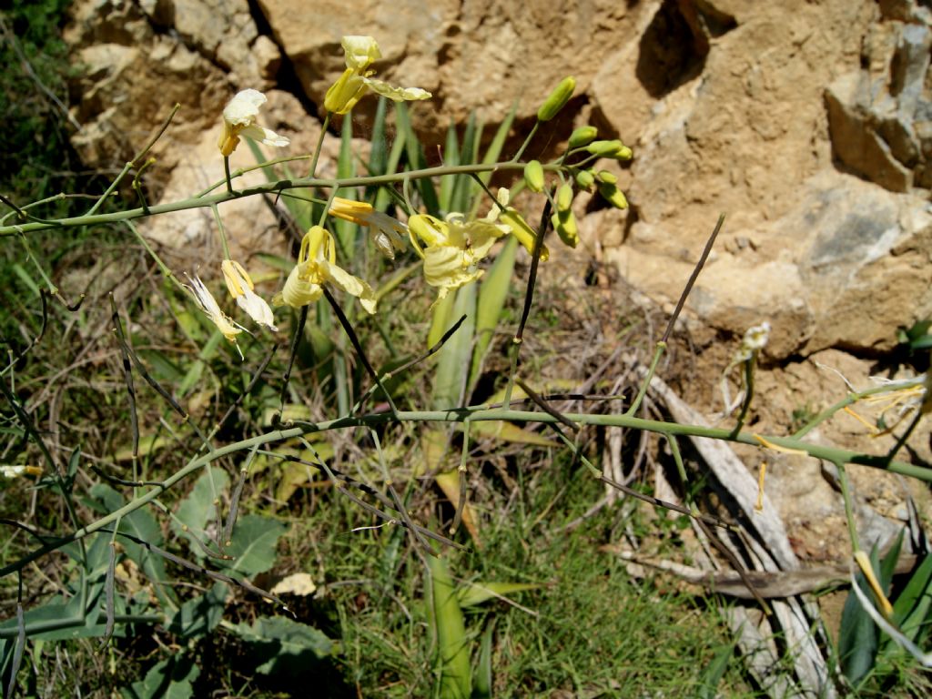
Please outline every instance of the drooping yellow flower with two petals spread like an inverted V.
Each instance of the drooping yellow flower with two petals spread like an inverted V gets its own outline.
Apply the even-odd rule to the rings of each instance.
[[[324,283],[359,298],[369,313],[376,312],[376,295],[365,281],[353,277],[349,272],[336,267],[336,245],[333,237],[322,226],[313,226],[301,240],[301,251],[297,264],[288,275],[281,293],[275,295],[276,306],[301,308],[323,295]]]

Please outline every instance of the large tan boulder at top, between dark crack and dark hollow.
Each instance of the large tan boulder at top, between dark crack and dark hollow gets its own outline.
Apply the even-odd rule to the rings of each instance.
[[[530,117],[566,75],[586,89],[606,57],[637,41],[643,12],[639,4],[609,0],[573,7],[546,0],[326,0],[313,12],[299,0],[260,0],[260,6],[315,103],[322,104],[345,68],[340,37],[368,34],[382,49],[379,77],[433,93],[432,108],[415,110],[418,126],[432,131],[465,121],[473,110],[484,121],[500,121],[515,101],[518,117]],[[361,103],[357,111],[365,109]]]

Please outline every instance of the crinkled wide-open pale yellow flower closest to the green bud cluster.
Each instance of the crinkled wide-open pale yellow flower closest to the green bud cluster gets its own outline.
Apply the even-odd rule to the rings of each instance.
[[[509,233],[508,226],[492,223],[497,215],[495,207],[484,219],[470,222],[462,213],[448,213],[443,221],[426,213],[408,219],[411,242],[424,258],[424,279],[440,290],[438,301],[483,275],[479,260]]]

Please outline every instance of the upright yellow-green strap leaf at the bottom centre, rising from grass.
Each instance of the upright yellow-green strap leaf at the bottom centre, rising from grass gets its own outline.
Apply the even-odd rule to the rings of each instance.
[[[431,571],[433,623],[437,637],[437,665],[440,670],[440,699],[467,699],[472,693],[470,652],[459,597],[446,561],[427,556]]]

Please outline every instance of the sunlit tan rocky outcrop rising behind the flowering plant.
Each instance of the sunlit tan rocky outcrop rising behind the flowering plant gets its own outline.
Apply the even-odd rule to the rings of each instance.
[[[567,118],[635,149],[618,171],[632,208],[625,218],[589,202],[583,254],[598,240],[627,281],[672,306],[719,213],[728,216],[690,322],[741,335],[769,320],[767,351],[783,358],[884,351],[898,325],[932,313],[925,3],[325,0],[308,12],[258,0],[261,16],[250,9],[247,0],[76,4],[67,38],[84,69],[75,84],[84,129],[75,145],[89,165],[121,165],[177,101],[154,174],[164,196],[184,196],[194,181],[170,182],[171,167],[190,172],[206,158],[198,182],[218,176],[210,143],[220,110],[247,87],[278,94],[267,125],[292,137],[291,153],[306,152],[313,140],[301,134],[319,128],[307,111],[344,67],[341,35],[372,34],[380,77],[434,93],[412,108],[429,145],[450,121],[475,111],[491,126],[515,101],[524,130],[549,89],[575,75]],[[288,70],[277,74],[280,63]],[[374,103],[354,117],[364,121]],[[162,240],[198,238],[190,222],[172,226]]]

